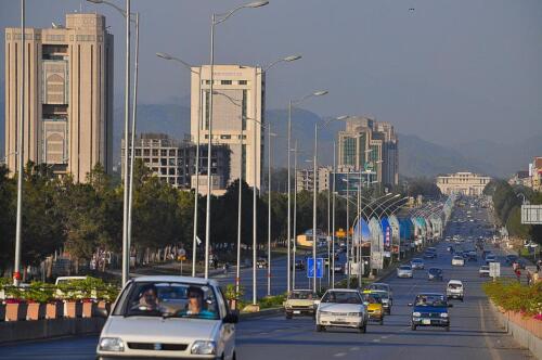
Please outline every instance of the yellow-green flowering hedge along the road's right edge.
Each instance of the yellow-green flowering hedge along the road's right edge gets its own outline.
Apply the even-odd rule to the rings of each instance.
[[[482,287],[489,298],[506,311],[537,318],[542,314],[542,282],[524,285],[511,279],[500,279],[487,282]]]

